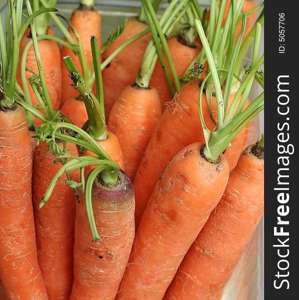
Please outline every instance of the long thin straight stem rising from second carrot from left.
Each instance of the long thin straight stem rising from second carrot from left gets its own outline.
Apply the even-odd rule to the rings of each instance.
[[[31,5],[30,5],[29,0],[26,0],[26,6],[27,6],[28,14],[30,16],[32,14],[32,10],[31,10]],[[41,86],[42,86],[45,105],[47,107],[46,114],[49,117],[49,119],[52,119],[54,117],[55,112],[54,112],[54,109],[53,109],[53,106],[52,106],[52,103],[51,103],[51,100],[50,100],[47,84],[45,82],[43,66],[42,66],[42,63],[41,63],[40,53],[39,53],[39,49],[38,49],[38,43],[37,43],[34,20],[32,20],[32,22],[30,24],[30,28],[31,28],[32,42],[33,42],[33,48],[34,48],[37,68],[38,68],[38,72],[39,72],[40,83],[41,83]]]

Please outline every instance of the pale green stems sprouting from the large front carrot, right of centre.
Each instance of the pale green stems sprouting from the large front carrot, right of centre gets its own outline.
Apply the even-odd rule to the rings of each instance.
[[[234,0],[232,2],[234,2]],[[207,159],[211,161],[216,161],[218,159],[218,156],[229,146],[231,140],[238,134],[238,132],[240,132],[240,130],[254,116],[256,116],[261,110],[264,109],[264,104],[260,105],[264,100],[264,91],[254,101],[252,101],[252,103],[247,108],[243,109],[245,106],[246,99],[250,93],[252,84],[254,82],[256,72],[264,62],[264,54],[260,57],[260,59],[258,58],[261,38],[261,25],[257,23],[256,26],[255,43],[249,74],[240,85],[234,97],[234,100],[232,101],[232,104],[230,105],[230,107],[228,107],[229,91],[231,88],[232,78],[234,76],[234,67],[245,32],[246,16],[243,15],[243,25],[240,36],[237,40],[237,44],[234,51],[230,54],[231,65],[228,69],[224,94],[222,94],[220,76],[217,72],[216,63],[213,58],[212,50],[209,46],[203,26],[200,20],[198,19],[195,20],[195,23],[200,39],[202,41],[203,48],[205,50],[205,54],[207,56],[210,71],[201,84],[199,96],[200,119],[203,126],[204,137],[206,141],[206,145],[204,147],[204,154]],[[234,34],[232,34],[231,38],[235,39]],[[218,112],[218,120],[216,123],[216,127],[212,132],[207,128],[202,112],[202,94],[207,86],[207,81],[209,80],[209,78],[213,79],[213,88],[216,94]],[[238,104],[238,100],[240,99],[240,97],[241,100]]]

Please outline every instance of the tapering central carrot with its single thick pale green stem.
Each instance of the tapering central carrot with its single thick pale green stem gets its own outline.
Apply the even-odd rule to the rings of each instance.
[[[170,31],[173,25],[165,20],[172,19],[180,7],[186,6],[186,1],[181,1],[179,8],[174,3],[167,7],[160,21],[164,33]],[[135,83],[122,91],[108,119],[108,129],[118,137],[126,172],[131,180],[135,177],[143,152],[161,115],[159,94],[149,85],[156,60],[155,41],[152,39],[146,48]]]

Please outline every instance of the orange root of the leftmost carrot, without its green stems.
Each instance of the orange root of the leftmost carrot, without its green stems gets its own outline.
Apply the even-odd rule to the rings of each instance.
[[[24,110],[0,109],[0,280],[8,299],[47,299],[37,262],[32,154]]]

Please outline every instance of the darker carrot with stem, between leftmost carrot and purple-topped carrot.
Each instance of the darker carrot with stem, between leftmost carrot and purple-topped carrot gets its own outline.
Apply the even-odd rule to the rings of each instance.
[[[26,4],[28,13],[31,15],[32,11],[29,1]],[[51,105],[33,22],[30,24],[30,28],[39,74],[38,76],[33,74],[29,78],[29,82],[39,104],[46,114],[41,114],[41,120],[43,122],[51,121],[53,125],[60,120],[60,114],[55,112]],[[37,89],[36,85],[40,85],[41,88]],[[31,107],[31,111],[35,112],[33,107]],[[40,113],[37,113],[37,116],[39,115]],[[35,147],[32,173],[37,258],[48,298],[68,299],[73,281],[72,253],[76,197],[74,191],[70,190],[68,185],[61,181],[54,191],[51,204],[47,205],[43,210],[38,211],[37,201],[40,201],[46,190],[45,184],[50,182],[51,177],[61,168],[64,162],[61,160],[62,163],[55,163],[55,156],[48,151],[49,143],[47,141],[51,139],[48,137],[47,130],[46,124],[41,124],[35,130],[37,135],[43,137],[38,140],[38,143],[40,140],[45,141],[37,144]],[[68,148],[73,155],[77,154],[76,145],[67,145],[66,143],[63,145],[60,143],[60,147],[57,145],[56,148],[52,148],[52,150],[55,150],[54,154],[61,152],[62,147],[63,149]],[[78,177],[77,173],[72,173],[71,175],[75,178],[76,176]],[[70,179],[68,172],[65,175],[66,177]],[[50,224],[50,221],[54,218],[55,222]]]

